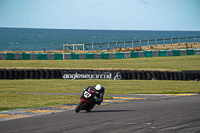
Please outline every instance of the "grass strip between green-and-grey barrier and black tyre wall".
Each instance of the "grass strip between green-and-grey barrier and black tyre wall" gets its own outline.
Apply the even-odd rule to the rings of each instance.
[[[199,70],[200,55],[107,60],[0,60],[0,67]]]

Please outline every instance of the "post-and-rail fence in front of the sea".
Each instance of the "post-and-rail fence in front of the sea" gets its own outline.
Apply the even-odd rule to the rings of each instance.
[[[162,38],[162,39],[149,39],[149,40],[138,40],[138,41],[123,41],[123,42],[107,42],[107,43],[92,43],[92,44],[63,44],[63,50],[73,50],[73,51],[89,51],[89,50],[112,50],[117,48],[137,48],[142,46],[155,46],[166,44],[177,44],[180,45],[185,43],[195,43],[200,42],[200,36],[194,37],[178,37],[178,38]],[[67,48],[67,49],[65,49]]]

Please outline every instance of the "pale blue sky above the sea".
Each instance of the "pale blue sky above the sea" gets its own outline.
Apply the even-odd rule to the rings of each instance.
[[[200,31],[200,0],[0,0],[0,27]]]

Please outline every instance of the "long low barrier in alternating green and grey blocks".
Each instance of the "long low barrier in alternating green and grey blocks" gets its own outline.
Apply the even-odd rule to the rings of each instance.
[[[164,57],[200,55],[200,49],[180,50],[154,50],[137,52],[113,52],[113,53],[0,53],[0,60],[81,60],[81,59],[122,59],[137,57]]]

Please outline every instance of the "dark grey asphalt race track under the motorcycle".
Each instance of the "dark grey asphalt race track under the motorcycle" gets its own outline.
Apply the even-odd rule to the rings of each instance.
[[[92,112],[69,110],[0,122],[0,132],[48,133],[199,133],[200,95],[124,95],[146,97],[95,106]]]

